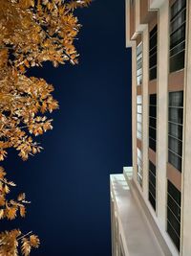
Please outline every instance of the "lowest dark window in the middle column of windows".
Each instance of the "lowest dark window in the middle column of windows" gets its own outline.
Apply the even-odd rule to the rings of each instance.
[[[149,201],[156,210],[156,166],[149,161]]]

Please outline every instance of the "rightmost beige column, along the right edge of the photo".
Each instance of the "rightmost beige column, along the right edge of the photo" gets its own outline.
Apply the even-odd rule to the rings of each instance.
[[[185,80],[184,80],[184,138],[182,174],[182,246],[181,255],[191,255],[191,1],[187,1]]]

